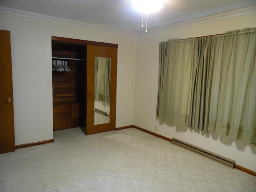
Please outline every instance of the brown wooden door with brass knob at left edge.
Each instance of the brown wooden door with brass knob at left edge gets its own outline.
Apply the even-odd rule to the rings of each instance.
[[[15,151],[10,31],[0,30],[0,154]]]

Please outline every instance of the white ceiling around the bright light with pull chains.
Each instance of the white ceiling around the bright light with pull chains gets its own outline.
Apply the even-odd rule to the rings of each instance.
[[[253,5],[256,0],[165,0],[162,10],[148,14],[148,31]],[[132,0],[0,0],[0,6],[119,30],[143,30],[142,13],[132,8]]]

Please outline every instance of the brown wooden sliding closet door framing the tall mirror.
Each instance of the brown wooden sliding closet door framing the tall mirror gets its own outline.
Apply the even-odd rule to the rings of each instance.
[[[95,57],[110,58],[110,112],[109,123],[94,124],[94,78]],[[116,69],[117,45],[113,47],[87,45],[87,100],[86,100],[86,134],[111,131],[116,128]]]

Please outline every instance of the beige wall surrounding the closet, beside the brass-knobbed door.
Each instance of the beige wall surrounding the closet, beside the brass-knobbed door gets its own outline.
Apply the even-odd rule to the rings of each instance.
[[[53,138],[51,36],[118,44],[116,127],[133,124],[136,36],[0,14],[12,46],[15,144]]]

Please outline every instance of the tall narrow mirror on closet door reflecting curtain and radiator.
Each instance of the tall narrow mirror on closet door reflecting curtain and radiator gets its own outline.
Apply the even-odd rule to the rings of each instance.
[[[110,58],[95,57],[94,125],[109,123]]]

